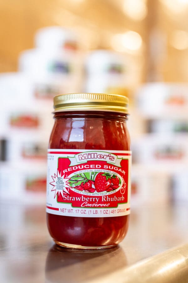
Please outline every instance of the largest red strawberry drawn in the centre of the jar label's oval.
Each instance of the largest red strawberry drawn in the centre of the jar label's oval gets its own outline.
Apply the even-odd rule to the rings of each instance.
[[[95,189],[97,192],[106,191],[112,184],[111,175],[109,173],[98,173],[95,177]]]

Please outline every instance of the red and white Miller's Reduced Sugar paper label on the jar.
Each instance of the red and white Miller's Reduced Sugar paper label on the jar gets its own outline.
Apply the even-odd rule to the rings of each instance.
[[[113,217],[130,213],[130,151],[48,150],[51,214]]]

